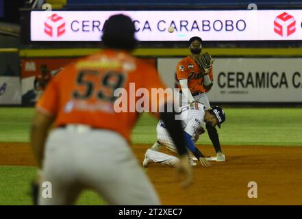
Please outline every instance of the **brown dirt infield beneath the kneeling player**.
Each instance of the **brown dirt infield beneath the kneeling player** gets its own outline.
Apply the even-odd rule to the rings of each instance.
[[[142,162],[146,145],[132,146]],[[211,146],[199,146],[213,155]],[[181,190],[174,170],[160,164],[145,168],[164,205],[302,205],[302,147],[224,146],[227,162],[194,168],[194,184]],[[0,165],[34,166],[26,143],[0,143]],[[249,181],[257,198],[248,198]]]

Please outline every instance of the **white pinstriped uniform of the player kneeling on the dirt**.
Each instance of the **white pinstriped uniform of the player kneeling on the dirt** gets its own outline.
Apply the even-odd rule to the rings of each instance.
[[[184,107],[180,107],[181,114],[179,115],[179,118],[182,121],[184,131],[186,131],[186,133],[188,133],[193,138],[197,130],[201,127],[201,123],[203,123],[203,118],[205,116],[204,107],[205,106],[201,103],[193,103],[192,105],[185,105]],[[166,149],[177,155],[175,144],[168,131],[166,130],[162,120],[158,122],[156,131],[160,145],[165,146]],[[155,145],[156,144],[157,143],[155,143]],[[175,164],[177,164],[178,162],[177,157],[159,152],[158,147],[156,146],[153,146],[151,149],[147,150],[145,159],[149,159],[153,163],[160,163],[168,166],[175,166]],[[192,164],[192,157],[189,156],[189,159]]]

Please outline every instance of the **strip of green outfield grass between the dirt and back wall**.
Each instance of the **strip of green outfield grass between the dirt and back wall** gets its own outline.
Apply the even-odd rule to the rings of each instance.
[[[302,146],[302,109],[225,108],[227,119],[218,130],[222,144]],[[33,108],[0,108],[0,142],[29,142]],[[157,121],[142,114],[132,133],[134,144],[152,144]],[[207,137],[199,144],[210,144]]]

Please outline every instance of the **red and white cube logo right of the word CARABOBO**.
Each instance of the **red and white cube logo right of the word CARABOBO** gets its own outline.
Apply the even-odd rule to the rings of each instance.
[[[296,21],[290,14],[284,12],[277,16],[274,21],[274,31],[280,36],[290,36],[296,31]]]

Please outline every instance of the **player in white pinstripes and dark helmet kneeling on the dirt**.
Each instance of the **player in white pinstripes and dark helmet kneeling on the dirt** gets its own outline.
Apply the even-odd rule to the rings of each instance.
[[[215,127],[216,125],[220,128],[221,123],[225,121],[225,112],[221,107],[213,107],[209,110],[204,110],[205,107],[199,102],[190,103],[181,107],[181,114],[179,114],[179,119],[182,120],[184,127],[184,134],[186,136],[186,146],[188,150],[194,155],[194,157],[201,162],[201,166],[211,166],[207,161],[205,156],[194,146],[194,142],[197,142],[199,134],[204,132],[202,131],[201,124],[203,121],[207,125]],[[148,149],[144,155],[144,162],[142,166],[147,167],[151,163],[160,163],[167,166],[175,166],[178,162],[178,158],[173,155],[167,155],[159,151],[160,146],[165,146],[168,151],[171,151],[174,155],[177,156],[177,151],[174,145],[173,140],[170,138],[168,131],[162,120],[159,121],[158,126],[156,127],[158,141],[153,144],[151,149]],[[194,140],[194,142],[192,141]],[[191,155],[189,160],[192,166],[196,164],[193,162]]]

